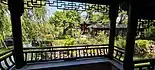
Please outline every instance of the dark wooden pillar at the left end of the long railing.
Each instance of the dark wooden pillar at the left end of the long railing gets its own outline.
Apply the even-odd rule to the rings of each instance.
[[[8,0],[9,11],[11,14],[12,34],[14,40],[14,59],[16,69],[24,66],[23,44],[22,44],[22,30],[21,30],[21,15],[24,12],[23,0]]]

